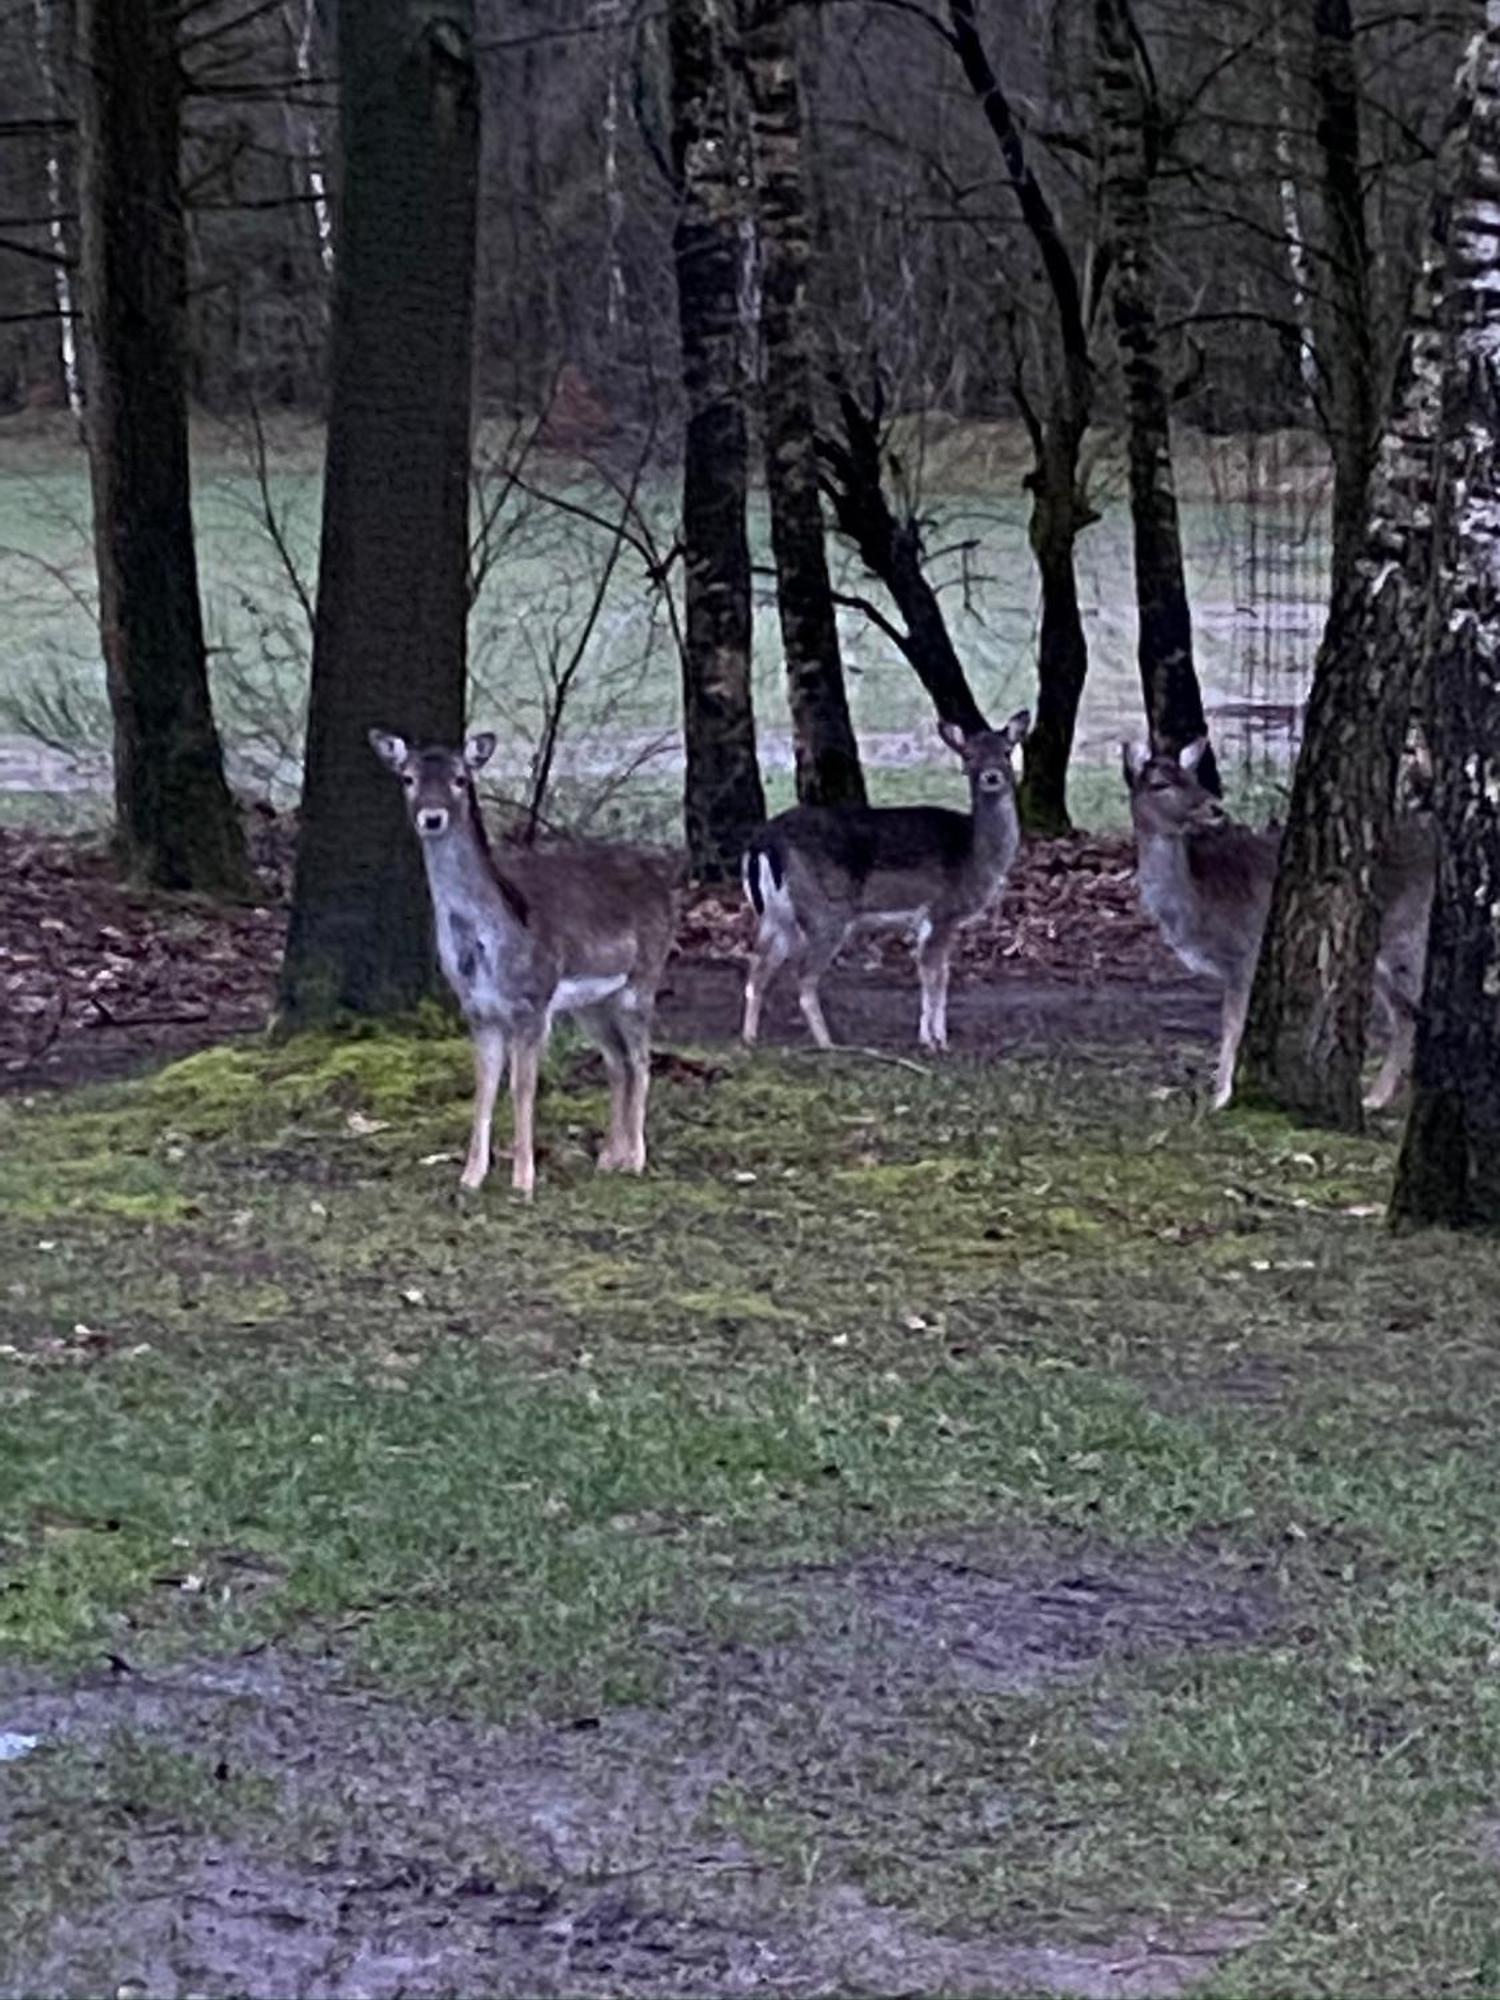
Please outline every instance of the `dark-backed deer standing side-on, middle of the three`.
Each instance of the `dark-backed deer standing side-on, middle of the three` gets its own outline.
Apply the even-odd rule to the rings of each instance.
[[[948,1046],[954,938],[994,904],[1020,850],[1012,752],[1032,726],[1022,708],[1000,730],[938,734],[962,760],[970,810],[944,806],[794,806],[750,840],[742,878],[756,914],[742,1040],[754,1046],[766,990],[790,964],[818,1048],[832,1048],[818,986],[854,932],[912,930],[922,988],[918,1042]]]

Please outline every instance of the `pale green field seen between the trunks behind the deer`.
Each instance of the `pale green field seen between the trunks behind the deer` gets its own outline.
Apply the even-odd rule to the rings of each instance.
[[[312,430],[280,428],[264,494],[244,432],[202,426],[196,448],[198,554],[218,712],[240,774],[282,800],[294,796],[296,784],[308,628],[268,532],[266,500],[312,592],[318,442]],[[1244,446],[1190,440],[1182,452],[1200,672],[1230,770],[1262,780],[1260,790],[1284,756],[1284,706],[1300,698],[1324,590],[1316,464],[1306,442],[1278,450],[1286,464],[1272,470],[1248,462]],[[1270,446],[1260,452],[1264,460]],[[914,456],[920,458],[916,444],[908,462]],[[1022,470],[1016,440],[1004,430],[934,428],[922,472],[934,574],[974,686],[994,716],[1032,698],[1036,586]],[[528,476],[546,492],[606,516],[618,506],[604,480],[574,466],[536,460]],[[1102,460],[1092,486],[1102,520],[1080,542],[1092,644],[1076,800],[1086,822],[1120,818],[1114,744],[1138,728],[1130,538],[1118,468]],[[1250,490],[1254,504],[1242,498]],[[656,544],[668,548],[674,476],[648,480],[642,508]],[[760,510],[754,544],[756,562],[768,562]],[[572,648],[606,548],[600,528],[536,500],[512,500],[500,516],[498,556],[472,618],[472,712],[502,730],[502,778],[510,790],[524,786],[552,666]],[[880,598],[842,546],[836,546],[836,580],[842,590]],[[88,480],[82,454],[54,426],[12,420],[0,428],[0,586],[8,610],[0,632],[0,734],[102,746],[108,722],[90,612]],[[876,796],[908,796],[912,786],[902,772],[912,770],[922,772],[914,788],[924,796],[954,792],[952,778],[944,782],[948,758],[932,740],[930,712],[910,668],[858,612],[844,612],[842,620],[850,694],[872,752]],[[774,796],[786,790],[776,784],[786,764],[776,740],[786,730],[778,660],[772,586],[762,578],[756,698]],[[644,582],[640,558],[626,552],[566,712],[556,800],[562,818],[592,828],[672,824],[676,674],[664,608]],[[8,816],[18,810],[12,798]]]

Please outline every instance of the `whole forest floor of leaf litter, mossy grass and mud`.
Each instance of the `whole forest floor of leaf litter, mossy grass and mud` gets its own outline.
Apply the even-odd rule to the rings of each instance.
[[[0,868],[0,1994],[1500,1992],[1500,1258],[1204,1116],[1118,844],[944,1062],[900,954],[734,1048],[702,904],[530,1208],[274,900]]]

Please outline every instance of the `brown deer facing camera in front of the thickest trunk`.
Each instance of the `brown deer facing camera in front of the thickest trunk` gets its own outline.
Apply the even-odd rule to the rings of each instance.
[[[386,730],[370,744],[406,794],[422,846],[438,962],[474,1044],[474,1120],[460,1186],[490,1172],[490,1126],[510,1058],[512,1186],[536,1186],[536,1078],[552,1022],[576,1016],[610,1078],[602,1172],[646,1168],[650,1024],[676,928],[670,862],[622,846],[496,852],[476,776],[494,756],[492,732],[462,748],[418,746]]]

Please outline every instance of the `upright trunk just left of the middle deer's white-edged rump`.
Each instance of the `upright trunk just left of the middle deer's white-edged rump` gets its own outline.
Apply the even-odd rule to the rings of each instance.
[[[766,816],[750,704],[746,372],[740,198],[724,50],[726,0],[672,0],[672,238],[688,434],[682,452],[684,818],[694,874],[738,872]]]

